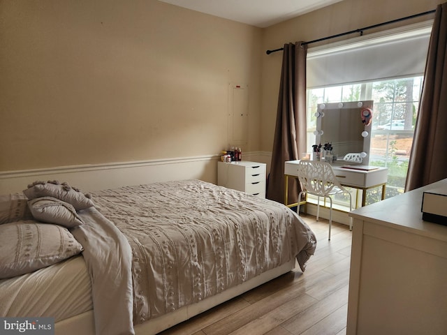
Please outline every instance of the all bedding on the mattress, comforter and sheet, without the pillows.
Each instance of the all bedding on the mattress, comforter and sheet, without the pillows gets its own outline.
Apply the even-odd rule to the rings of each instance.
[[[214,297],[294,258],[304,271],[316,247],[312,230],[283,204],[203,181],[92,195],[96,208],[79,211],[85,225],[71,230],[85,249],[83,256],[0,281],[0,299],[12,294],[0,315],[31,315],[43,306],[44,312],[34,315],[59,321],[89,311],[93,301],[96,334],[133,334],[132,323]],[[73,264],[78,268],[73,270]],[[56,279],[65,280],[67,265],[76,271],[68,277],[77,281],[64,285]],[[47,271],[59,295],[44,299],[36,288],[29,297],[31,278],[38,282],[38,274]],[[88,277],[92,294],[84,285],[90,284]],[[50,285],[42,285],[43,292],[50,291]],[[17,287],[14,296],[11,290]]]

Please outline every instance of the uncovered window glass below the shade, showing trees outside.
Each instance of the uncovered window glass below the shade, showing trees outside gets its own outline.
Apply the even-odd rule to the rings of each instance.
[[[369,165],[388,168],[386,198],[404,192],[423,77],[408,77],[307,90],[307,150],[315,142],[319,103],[373,100]],[[367,191],[367,204],[380,200],[381,188]],[[339,203],[343,203],[340,200]]]

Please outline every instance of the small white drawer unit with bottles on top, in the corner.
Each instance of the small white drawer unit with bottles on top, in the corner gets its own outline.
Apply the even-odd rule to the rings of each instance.
[[[265,198],[265,170],[264,163],[217,162],[217,185]]]

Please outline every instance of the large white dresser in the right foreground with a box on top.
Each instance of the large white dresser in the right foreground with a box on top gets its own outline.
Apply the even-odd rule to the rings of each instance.
[[[346,334],[447,334],[447,226],[423,221],[423,191],[352,211]]]

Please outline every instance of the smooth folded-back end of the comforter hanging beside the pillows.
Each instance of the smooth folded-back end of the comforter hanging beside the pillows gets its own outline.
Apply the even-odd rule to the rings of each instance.
[[[133,331],[132,253],[117,227],[91,207],[79,213],[83,225],[71,230],[82,244],[91,280],[96,335]]]

